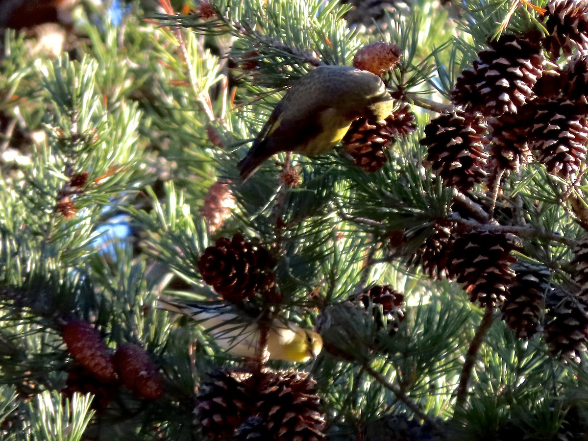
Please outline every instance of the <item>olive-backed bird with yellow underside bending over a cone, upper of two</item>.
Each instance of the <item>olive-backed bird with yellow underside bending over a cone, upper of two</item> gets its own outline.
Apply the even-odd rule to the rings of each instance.
[[[319,66],[294,83],[238,164],[243,181],[279,152],[320,155],[343,139],[356,118],[381,121],[393,99],[379,76],[349,66]]]

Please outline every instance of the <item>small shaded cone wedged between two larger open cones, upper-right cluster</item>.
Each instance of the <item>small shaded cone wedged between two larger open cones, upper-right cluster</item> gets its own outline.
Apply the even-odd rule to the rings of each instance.
[[[520,166],[532,161],[529,148],[529,131],[533,124],[531,110],[532,106],[523,106],[516,114],[505,113],[491,119],[490,155],[500,169],[518,172]]]

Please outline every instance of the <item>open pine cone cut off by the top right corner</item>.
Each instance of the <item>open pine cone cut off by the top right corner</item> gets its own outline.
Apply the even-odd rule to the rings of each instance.
[[[575,47],[588,49],[588,1],[549,0],[543,15],[544,26],[549,32],[544,45],[553,59],[572,55]]]

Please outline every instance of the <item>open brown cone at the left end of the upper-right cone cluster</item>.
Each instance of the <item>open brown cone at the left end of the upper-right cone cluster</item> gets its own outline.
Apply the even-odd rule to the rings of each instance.
[[[426,161],[449,186],[466,192],[486,177],[485,121],[457,109],[425,126],[422,145],[429,148]]]

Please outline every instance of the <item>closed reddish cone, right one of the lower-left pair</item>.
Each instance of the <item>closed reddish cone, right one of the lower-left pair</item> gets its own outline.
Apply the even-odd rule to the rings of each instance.
[[[145,349],[125,343],[116,349],[113,362],[123,385],[136,396],[148,400],[161,397],[161,377]]]

